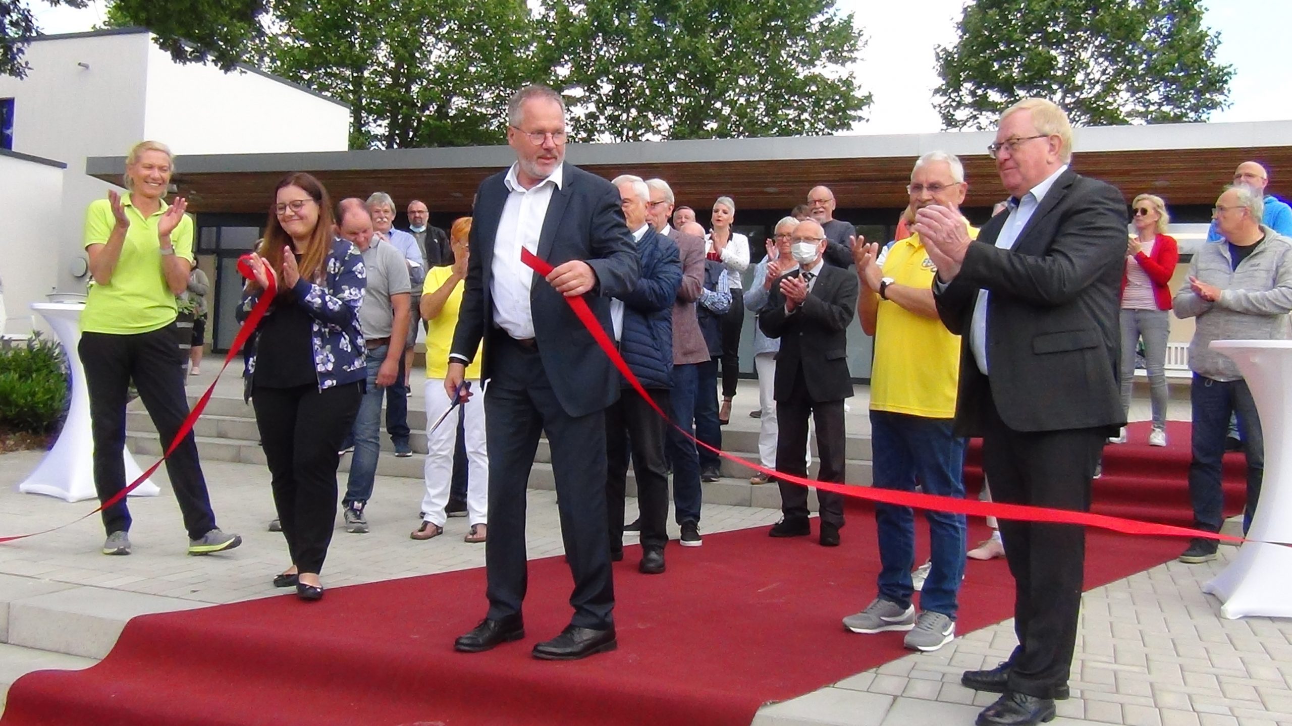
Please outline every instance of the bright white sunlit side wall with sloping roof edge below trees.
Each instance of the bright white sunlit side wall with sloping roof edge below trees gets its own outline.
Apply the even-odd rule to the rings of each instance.
[[[251,71],[180,65],[154,43],[146,97],[143,137],[181,156],[349,149],[346,106]]]

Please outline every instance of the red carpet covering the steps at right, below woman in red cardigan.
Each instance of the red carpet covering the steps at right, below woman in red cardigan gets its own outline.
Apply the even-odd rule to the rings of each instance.
[[[1092,512],[1193,526],[1189,503],[1190,425],[1167,421],[1167,446],[1149,446],[1147,421],[1130,424],[1128,443],[1103,447],[1103,475],[1094,481]],[[1247,460],[1242,452],[1225,455],[1225,515],[1243,512],[1247,501]],[[969,442],[965,461],[965,488],[977,493],[982,487],[982,439]]]

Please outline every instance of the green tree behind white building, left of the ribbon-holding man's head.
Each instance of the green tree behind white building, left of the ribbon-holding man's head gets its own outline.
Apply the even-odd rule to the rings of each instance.
[[[535,78],[523,0],[276,0],[266,70],[350,103],[351,147],[497,143]]]

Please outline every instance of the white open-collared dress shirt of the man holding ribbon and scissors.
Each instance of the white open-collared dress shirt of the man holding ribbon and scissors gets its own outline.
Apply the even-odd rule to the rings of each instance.
[[[497,327],[514,338],[525,340],[534,337],[534,313],[530,310],[534,270],[521,262],[521,248],[539,253],[543,221],[548,216],[552,192],[561,189],[565,181],[565,164],[532,189],[521,186],[516,169],[517,165],[512,164],[503,180],[510,194],[503,204],[497,236],[494,238],[490,295],[494,298],[494,322]]]

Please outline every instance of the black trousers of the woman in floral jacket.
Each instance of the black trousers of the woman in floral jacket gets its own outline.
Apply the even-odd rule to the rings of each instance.
[[[337,451],[360,398],[362,381],[323,390],[257,388],[252,395],[278,521],[301,572],[323,570],[336,523]]]

